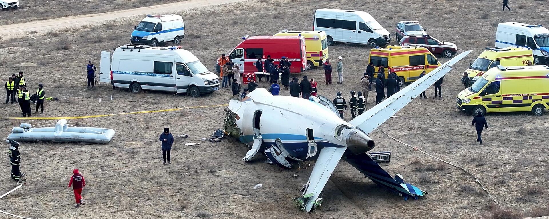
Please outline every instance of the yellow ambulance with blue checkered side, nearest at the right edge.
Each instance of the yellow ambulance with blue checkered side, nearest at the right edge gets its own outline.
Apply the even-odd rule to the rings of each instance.
[[[498,65],[457,95],[457,108],[477,114],[528,112],[541,116],[549,110],[549,67]]]

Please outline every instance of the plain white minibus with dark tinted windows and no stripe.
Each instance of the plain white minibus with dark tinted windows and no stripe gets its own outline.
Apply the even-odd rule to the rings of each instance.
[[[346,42],[368,44],[375,48],[391,42],[389,31],[364,11],[317,9],[313,30],[326,32],[328,45]]]

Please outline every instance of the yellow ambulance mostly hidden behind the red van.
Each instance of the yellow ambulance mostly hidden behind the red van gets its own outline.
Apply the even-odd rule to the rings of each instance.
[[[273,36],[303,36],[307,51],[306,70],[321,66],[328,59],[328,43],[324,31],[288,31],[282,30]]]

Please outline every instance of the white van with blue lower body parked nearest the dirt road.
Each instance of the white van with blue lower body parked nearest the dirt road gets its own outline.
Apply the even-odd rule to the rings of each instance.
[[[133,27],[132,44],[152,45],[158,47],[159,42],[173,41],[179,45],[185,37],[185,24],[180,15],[147,15]]]

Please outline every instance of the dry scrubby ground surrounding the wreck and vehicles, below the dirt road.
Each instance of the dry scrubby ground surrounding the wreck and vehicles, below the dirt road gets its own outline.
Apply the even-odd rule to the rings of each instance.
[[[468,63],[484,47],[494,45],[497,23],[520,21],[547,25],[547,12],[540,7],[545,3],[515,5],[511,2],[509,7],[513,11],[502,13],[500,3],[493,1],[420,0],[415,4],[398,0],[249,1],[186,10],[180,14],[188,27],[184,47],[212,70],[217,56],[231,51],[240,41],[239,37],[273,34],[282,29],[310,30],[314,10],[320,7],[368,11],[391,33],[398,21],[419,20],[432,36],[456,43],[460,51],[473,49],[473,53],[445,77],[441,100],[433,98],[434,91],[430,88],[429,99],[414,100],[380,129],[474,172],[507,210],[542,216],[539,214],[544,212],[531,211],[547,206],[549,157],[543,136],[549,131],[546,125],[549,117],[489,114],[486,116],[489,129],[483,136],[485,144],[479,146],[470,126],[472,117],[456,109],[455,98],[462,90],[460,75]],[[112,90],[105,84],[85,89],[87,60],[98,64],[101,50],[112,51],[117,45],[127,43],[138,20],[63,29],[53,34],[38,32],[2,41],[1,57],[8,58],[2,59],[0,74],[7,77],[23,70],[31,91],[36,89],[36,84],[44,83],[47,96],[60,97],[61,101],[46,102],[43,116],[48,117],[228,102],[229,90],[193,99],[152,91],[135,95],[127,90]],[[348,96],[349,90],[360,89],[358,79],[365,70],[368,52],[369,48],[357,45],[337,44],[329,48],[332,59],[344,57],[343,85],[323,85],[320,69],[300,76],[317,78],[320,94],[334,97],[341,91]],[[22,62],[34,62],[38,66],[12,67]],[[282,94],[289,95],[288,91]],[[113,101],[109,100],[111,95]],[[374,93],[369,95],[370,102],[374,96]],[[18,106],[0,107],[3,117],[19,114]],[[346,112],[345,117],[349,120],[350,112]],[[248,148],[235,140],[201,142],[202,137],[221,128],[222,118],[223,107],[212,107],[72,121],[82,126],[93,124],[115,129],[115,138],[107,145],[24,143],[21,170],[27,174],[29,184],[0,200],[0,209],[31,218],[492,218],[491,210],[497,208],[473,178],[374,131],[371,137],[378,145],[374,151],[393,152],[393,160],[382,164],[383,168],[390,174],[404,175],[407,182],[429,194],[421,200],[404,201],[379,189],[351,165],[341,162],[324,188],[322,208],[305,214],[295,208],[290,199],[299,195],[300,185],[306,183],[311,170],[281,170],[264,164],[265,157],[261,156],[252,163],[243,163],[241,158]],[[7,135],[20,122],[2,120],[0,127]],[[189,135],[189,139],[178,140],[174,145],[170,165],[161,164],[158,135],[164,127],[170,127],[174,135]],[[520,128],[524,129],[518,131]],[[188,142],[200,142],[200,145],[184,146],[183,143]],[[302,164],[305,163],[309,162]],[[73,208],[72,191],[66,188],[73,168],[80,169],[87,181],[86,205],[80,209]],[[9,181],[9,171],[5,164],[0,173],[3,176],[0,191],[15,187]],[[300,177],[292,178],[293,174]],[[253,189],[256,184],[263,187]]]

